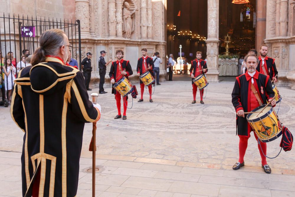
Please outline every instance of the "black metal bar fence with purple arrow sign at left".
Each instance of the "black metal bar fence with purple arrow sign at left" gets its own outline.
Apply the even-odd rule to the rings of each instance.
[[[80,35],[80,21],[54,19],[37,16],[19,16],[19,15],[4,15],[0,17],[0,54],[1,54],[1,80],[2,90],[4,86],[8,87],[4,83],[3,66],[6,62],[3,62],[5,56],[8,53],[12,53],[10,57],[11,62],[17,64],[21,61],[23,50],[29,50],[29,54],[33,54],[35,49],[39,47],[39,37],[42,32],[48,29],[61,29],[68,36],[70,45],[73,46],[71,54],[74,59],[79,62],[79,68],[81,70],[81,35]],[[26,63],[24,63],[26,65]],[[17,65],[14,65],[16,67]],[[22,68],[22,64],[20,69]],[[16,75],[19,72],[16,69]],[[3,75],[4,74],[4,75]],[[8,77],[7,77],[8,78]],[[9,77],[10,78],[10,77]],[[12,80],[12,79],[11,79]],[[7,93],[8,94],[8,93]],[[2,100],[5,96],[2,91]],[[8,96],[8,95],[7,95]]]

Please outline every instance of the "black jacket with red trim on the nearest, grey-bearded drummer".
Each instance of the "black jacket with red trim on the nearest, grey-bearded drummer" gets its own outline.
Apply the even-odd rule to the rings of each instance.
[[[243,109],[244,112],[250,112],[250,91],[251,91],[251,76],[246,72],[243,75],[236,77],[235,86],[232,90],[232,104],[235,111]],[[258,91],[263,104],[267,104],[267,100],[272,99],[274,96],[271,80],[269,76],[256,72],[253,76],[254,87]],[[259,88],[258,88],[259,87]],[[251,126],[248,124],[246,116],[236,116],[237,134],[248,136],[248,131]]]

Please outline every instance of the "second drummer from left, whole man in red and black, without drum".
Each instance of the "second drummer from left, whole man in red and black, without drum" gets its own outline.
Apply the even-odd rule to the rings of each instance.
[[[139,58],[137,61],[137,68],[136,68],[137,76],[142,75],[146,71],[150,72],[151,75],[153,76],[154,62],[153,62],[153,59],[148,56],[148,49],[146,49],[146,48],[141,49],[141,53],[142,53],[142,57]],[[141,97],[137,102],[142,102],[145,84],[142,83],[141,80],[139,80],[139,82],[140,82]],[[152,103],[153,102],[153,100],[152,100],[152,84],[150,84],[148,86],[148,91],[150,94],[150,102]]]

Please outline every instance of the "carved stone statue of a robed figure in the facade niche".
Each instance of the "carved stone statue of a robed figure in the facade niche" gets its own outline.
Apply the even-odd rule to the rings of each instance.
[[[133,23],[133,14],[135,13],[135,10],[131,11],[130,10],[130,5],[127,1],[124,2],[123,4],[123,13],[122,13],[122,18],[123,18],[123,37],[124,38],[131,38],[131,33],[134,30],[134,23]]]

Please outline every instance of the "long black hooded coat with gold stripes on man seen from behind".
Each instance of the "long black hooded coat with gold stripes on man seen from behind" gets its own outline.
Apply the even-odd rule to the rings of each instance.
[[[76,196],[84,124],[100,118],[82,72],[55,57],[25,67],[10,112],[24,132],[22,195]]]

